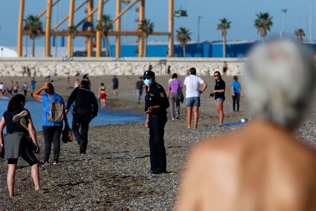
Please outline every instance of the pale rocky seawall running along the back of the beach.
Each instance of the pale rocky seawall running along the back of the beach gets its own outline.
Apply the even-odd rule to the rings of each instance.
[[[76,57],[76,61],[62,61],[62,57],[45,58],[1,58],[0,76],[22,76],[21,67],[27,66],[31,69],[33,76],[34,68],[36,76],[46,76],[48,69],[51,75],[57,74],[64,76],[69,72],[70,75],[79,73],[88,73],[91,76],[98,75],[142,75],[148,70],[149,63],[153,66],[153,71],[157,74],[163,74],[166,70],[161,60],[166,60],[167,66],[171,66],[171,73],[186,75],[191,67],[197,69],[197,75],[205,75],[209,72],[211,75],[215,71],[223,72],[222,64],[228,63],[227,75],[242,75],[245,65],[245,58],[167,58],[167,57],[125,57],[123,61],[113,61],[111,57]],[[166,70],[167,71],[167,70]]]

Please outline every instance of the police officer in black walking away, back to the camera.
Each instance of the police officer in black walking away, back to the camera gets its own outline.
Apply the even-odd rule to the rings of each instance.
[[[90,121],[97,116],[98,102],[93,92],[89,89],[89,82],[81,81],[80,87],[74,89],[70,94],[66,113],[68,113],[70,106],[75,101],[75,107],[71,112],[73,114],[73,121],[71,130],[80,145],[80,153],[86,154],[88,145],[88,130]],[[81,127],[81,134],[79,128]]]

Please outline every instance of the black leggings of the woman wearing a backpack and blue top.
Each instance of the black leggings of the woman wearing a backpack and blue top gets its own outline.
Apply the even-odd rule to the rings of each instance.
[[[63,126],[42,126],[44,136],[44,162],[48,162],[49,155],[51,154],[52,143],[54,149],[54,161],[58,161],[60,152],[60,135]]]

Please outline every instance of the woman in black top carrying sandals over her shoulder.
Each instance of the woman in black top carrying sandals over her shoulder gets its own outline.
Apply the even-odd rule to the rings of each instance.
[[[35,190],[40,190],[39,166],[31,146],[27,141],[28,130],[36,146],[35,153],[40,152],[37,144],[36,131],[33,126],[31,114],[24,108],[27,101],[22,94],[17,94],[10,99],[8,110],[4,112],[0,122],[0,145],[2,147],[0,157],[8,160],[8,189],[10,196],[14,196],[14,178],[18,158],[22,157],[30,166]],[[7,127],[7,133],[4,134],[3,128]]]

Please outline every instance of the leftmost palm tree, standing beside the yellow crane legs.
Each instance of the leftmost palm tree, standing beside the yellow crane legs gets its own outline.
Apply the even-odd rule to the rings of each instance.
[[[35,49],[35,43],[34,39],[37,37],[38,32],[43,30],[42,22],[39,18],[37,18],[34,15],[27,16],[26,19],[24,19],[25,25],[24,25],[24,31],[30,33],[30,39],[32,40],[32,57],[34,57],[34,49]]]

